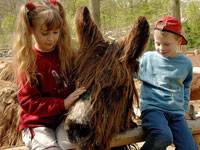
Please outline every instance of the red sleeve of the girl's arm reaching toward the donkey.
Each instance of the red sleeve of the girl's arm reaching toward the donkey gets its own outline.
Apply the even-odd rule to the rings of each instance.
[[[25,76],[23,76],[23,80],[26,81]],[[29,83],[20,87],[17,96],[22,109],[31,115],[47,117],[62,114],[66,111],[64,99],[42,97],[38,88],[34,85],[30,86]]]

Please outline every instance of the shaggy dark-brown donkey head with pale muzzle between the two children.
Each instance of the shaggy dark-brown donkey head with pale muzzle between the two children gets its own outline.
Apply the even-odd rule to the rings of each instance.
[[[69,112],[68,138],[84,150],[108,150],[112,138],[129,129],[134,117],[133,103],[138,103],[138,95],[133,72],[138,72],[137,58],[147,46],[149,24],[139,17],[126,36],[109,43],[89,10],[82,7],[75,15],[75,27],[80,48],[74,79],[77,88],[87,88],[90,98],[80,99]],[[80,115],[73,111],[78,108]]]

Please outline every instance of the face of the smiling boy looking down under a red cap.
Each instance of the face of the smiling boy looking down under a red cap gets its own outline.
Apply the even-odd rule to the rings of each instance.
[[[173,33],[155,30],[154,31],[155,49],[163,57],[176,57],[176,51],[179,49],[181,38],[178,40]]]

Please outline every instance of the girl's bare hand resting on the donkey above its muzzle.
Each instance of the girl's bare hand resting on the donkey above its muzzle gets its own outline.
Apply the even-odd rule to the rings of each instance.
[[[80,95],[82,95],[86,91],[85,87],[81,87],[76,89],[73,93],[71,93],[65,100],[65,108],[68,110],[79,98]]]

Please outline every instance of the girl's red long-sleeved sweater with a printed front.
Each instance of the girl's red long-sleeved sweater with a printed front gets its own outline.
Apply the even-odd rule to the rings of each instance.
[[[18,128],[46,126],[55,129],[66,112],[64,99],[73,91],[73,86],[70,77],[61,75],[57,50],[40,52],[33,49],[37,54],[38,84],[25,84],[18,92],[22,107]],[[25,75],[22,77],[25,83]]]

